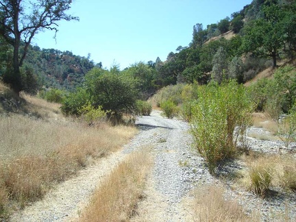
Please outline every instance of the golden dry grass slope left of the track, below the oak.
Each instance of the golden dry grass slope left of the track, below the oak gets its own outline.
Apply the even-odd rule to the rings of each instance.
[[[64,119],[56,103],[22,97],[25,115],[0,113],[0,219],[9,214],[8,205],[11,210],[42,197],[53,184],[136,134],[134,127],[87,127]]]

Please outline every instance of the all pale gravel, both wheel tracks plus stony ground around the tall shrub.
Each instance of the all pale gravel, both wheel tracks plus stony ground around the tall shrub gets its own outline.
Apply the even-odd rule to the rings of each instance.
[[[204,159],[191,148],[193,140],[186,122],[163,118],[160,111],[153,110],[151,116],[139,117],[136,125],[140,129],[139,134],[125,145],[122,151],[108,157],[103,164],[95,164],[82,172],[73,178],[74,182],[70,180],[58,185],[42,201],[16,212],[11,221],[72,221],[78,217],[77,212],[87,204],[101,178],[108,175],[128,153],[145,146],[152,147],[154,165],[147,177],[145,198],[138,203],[131,221],[193,221],[183,200],[190,197],[191,190],[204,184],[222,184],[226,190],[225,197],[237,199],[238,203],[244,206],[246,213],[259,210],[262,221],[273,220],[275,212],[285,214],[287,206],[291,209],[288,212],[289,217],[296,221],[295,193],[288,194],[277,190],[277,195],[273,198],[261,199],[242,188],[233,189],[232,180],[221,182],[219,178],[210,175]],[[260,130],[262,129],[252,127],[250,131],[259,133]],[[267,153],[276,153],[279,147],[282,149],[279,141],[248,138],[248,144],[251,149]],[[291,147],[293,146],[295,145],[292,144]],[[243,163],[236,160],[228,163],[221,174],[227,175],[243,167]],[[94,177],[92,180],[89,179],[90,175]]]

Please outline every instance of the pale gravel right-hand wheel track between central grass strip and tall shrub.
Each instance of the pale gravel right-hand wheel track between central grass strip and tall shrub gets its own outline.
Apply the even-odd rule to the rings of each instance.
[[[131,221],[192,221],[182,201],[195,183],[192,169],[189,172],[182,166],[183,162],[190,162],[187,158],[192,154],[188,124],[162,118],[159,111],[153,111],[151,116],[143,116],[138,125],[147,134],[153,132],[149,140],[154,144],[154,167],[147,179],[145,198],[138,203]]]

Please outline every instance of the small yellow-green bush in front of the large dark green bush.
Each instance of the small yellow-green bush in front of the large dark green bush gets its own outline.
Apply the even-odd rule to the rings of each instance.
[[[95,125],[95,123],[99,121],[106,120],[106,112],[102,110],[101,106],[95,108],[88,103],[87,105],[82,106],[82,108],[79,108],[78,112],[88,125]]]

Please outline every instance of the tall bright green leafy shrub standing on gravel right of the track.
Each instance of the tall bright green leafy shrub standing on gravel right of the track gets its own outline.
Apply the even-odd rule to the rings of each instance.
[[[222,160],[234,156],[238,135],[245,136],[253,107],[245,88],[236,82],[200,86],[197,90],[191,133],[197,151],[214,173]]]

